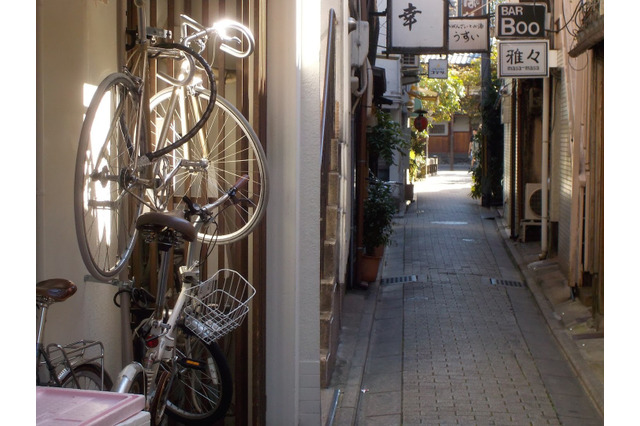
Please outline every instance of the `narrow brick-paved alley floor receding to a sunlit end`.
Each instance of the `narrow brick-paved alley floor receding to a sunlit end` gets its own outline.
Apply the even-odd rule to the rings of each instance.
[[[470,186],[466,169],[417,183],[379,283],[347,293],[327,424],[603,424],[599,397],[505,248],[497,211]]]

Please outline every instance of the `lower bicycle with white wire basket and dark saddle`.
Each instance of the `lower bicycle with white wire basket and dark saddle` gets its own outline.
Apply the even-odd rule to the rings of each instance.
[[[152,315],[135,330],[141,357],[127,365],[116,381],[116,392],[146,395],[154,424],[165,415],[188,424],[211,424],[231,403],[233,383],[227,361],[216,341],[239,325],[249,312],[255,289],[238,272],[220,269],[201,281],[200,269],[210,246],[202,250],[198,233],[216,227],[215,212],[232,206],[248,177],[241,178],[212,203],[199,206],[184,197],[185,210],[147,212],[136,221],[146,242],[158,244],[160,268]],[[179,268],[180,292],[167,303],[170,250],[186,244],[186,262]]]

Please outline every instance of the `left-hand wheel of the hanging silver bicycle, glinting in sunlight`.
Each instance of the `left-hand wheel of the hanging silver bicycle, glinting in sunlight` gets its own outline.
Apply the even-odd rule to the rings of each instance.
[[[137,115],[140,99],[122,73],[105,78],[82,124],[74,182],[74,213],[80,254],[96,279],[107,281],[126,265],[142,211],[144,185]]]

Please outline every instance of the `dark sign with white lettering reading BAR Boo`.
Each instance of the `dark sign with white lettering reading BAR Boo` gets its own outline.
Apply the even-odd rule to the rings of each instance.
[[[497,38],[544,38],[547,5],[503,3],[496,6]]]

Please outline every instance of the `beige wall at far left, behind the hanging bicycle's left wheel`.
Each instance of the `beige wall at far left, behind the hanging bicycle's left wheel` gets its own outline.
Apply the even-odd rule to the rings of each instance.
[[[36,6],[36,279],[63,277],[78,286],[71,299],[51,308],[45,343],[101,340],[113,378],[121,365],[115,288],[84,282],[73,179],[85,110],[83,84],[97,85],[116,70],[115,12],[114,0],[40,0]]]

